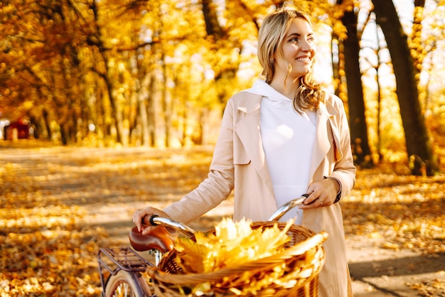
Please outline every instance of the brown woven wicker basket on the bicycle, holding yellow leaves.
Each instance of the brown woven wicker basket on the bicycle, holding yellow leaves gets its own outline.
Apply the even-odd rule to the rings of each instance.
[[[252,229],[286,227],[282,222],[254,222]],[[214,232],[214,230],[210,230]],[[176,251],[164,255],[159,266],[147,272],[158,297],[176,296],[318,296],[318,274],[324,264],[323,242],[328,234],[292,225],[287,231],[290,241],[279,254],[257,259],[238,267],[219,269],[205,274],[184,274],[176,264]],[[286,264],[284,274],[277,276],[274,267]],[[282,270],[281,270],[282,271]],[[262,286],[261,281],[264,282]],[[206,284],[204,294],[191,293],[195,286]],[[252,291],[252,287],[256,291]]]

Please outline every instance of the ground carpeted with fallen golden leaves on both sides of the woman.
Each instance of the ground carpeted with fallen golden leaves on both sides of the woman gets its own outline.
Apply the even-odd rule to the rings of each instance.
[[[113,220],[125,226],[125,241],[136,207],[181,198],[205,178],[212,153],[0,142],[0,296],[100,296],[97,252],[116,239]],[[106,207],[119,220],[100,220]],[[347,237],[379,239],[377,248],[395,258],[400,251],[433,259],[445,253],[445,175],[360,169],[342,207]],[[197,224],[210,229],[220,219]],[[445,296],[444,274],[404,286],[412,296]]]

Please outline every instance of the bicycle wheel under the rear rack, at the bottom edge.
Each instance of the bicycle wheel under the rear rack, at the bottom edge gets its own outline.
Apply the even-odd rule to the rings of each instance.
[[[140,297],[152,296],[146,280],[135,273],[121,270],[109,276],[105,286],[105,297]]]

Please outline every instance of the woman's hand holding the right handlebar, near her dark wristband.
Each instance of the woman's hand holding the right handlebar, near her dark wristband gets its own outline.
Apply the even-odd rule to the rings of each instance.
[[[331,205],[336,200],[339,190],[340,185],[334,178],[325,178],[311,183],[307,191],[309,196],[299,208],[301,210],[309,210],[311,208]]]

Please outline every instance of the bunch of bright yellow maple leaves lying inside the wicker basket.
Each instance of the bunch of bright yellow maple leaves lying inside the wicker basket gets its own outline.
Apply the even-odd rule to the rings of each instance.
[[[289,242],[286,232],[293,223],[289,221],[282,229],[277,224],[252,229],[250,221],[233,222],[226,218],[215,226],[214,234],[197,232],[195,242],[178,237],[176,261],[186,273],[242,266],[281,252],[284,244]]]

